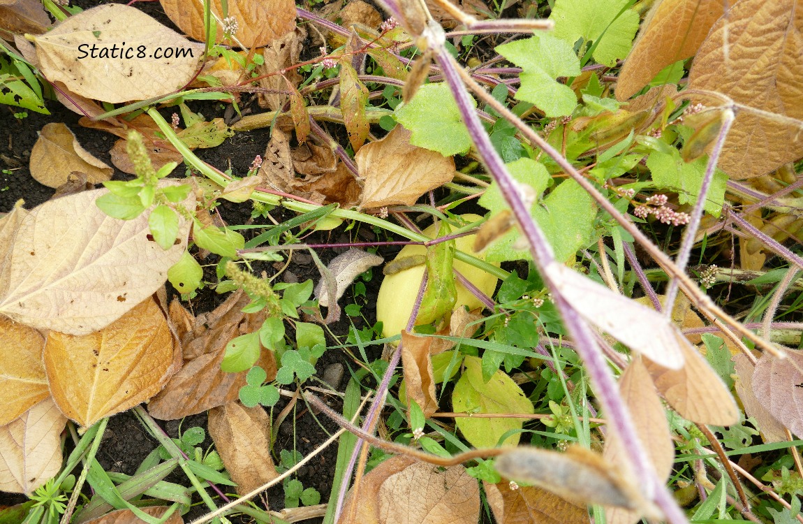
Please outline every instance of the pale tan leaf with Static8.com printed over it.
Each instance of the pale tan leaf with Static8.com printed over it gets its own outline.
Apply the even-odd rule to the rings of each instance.
[[[120,4],[74,14],[34,41],[48,80],[112,104],[176,91],[192,79],[203,54],[203,44],[190,42],[141,10]],[[92,58],[93,46],[97,58]],[[112,56],[114,46],[116,55]],[[125,58],[121,59],[122,52]],[[168,53],[172,57],[163,58]]]

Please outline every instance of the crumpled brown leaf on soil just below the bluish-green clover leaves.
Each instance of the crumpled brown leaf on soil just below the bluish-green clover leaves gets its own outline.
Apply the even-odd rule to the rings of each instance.
[[[271,418],[238,402],[209,411],[209,434],[241,497],[279,477],[271,459]]]

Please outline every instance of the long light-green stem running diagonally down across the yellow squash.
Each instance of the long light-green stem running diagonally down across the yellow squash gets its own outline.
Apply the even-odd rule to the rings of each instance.
[[[181,138],[177,137],[176,133],[173,133],[173,128],[165,121],[165,119],[159,114],[156,108],[149,108],[148,114],[153,121],[156,122],[156,125],[159,126],[159,130],[165,134],[165,138],[170,142],[171,145],[184,157],[185,162],[193,166],[194,169],[198,170],[200,173],[204,174],[206,178],[209,178],[212,182],[218,184],[218,186],[226,187],[228,186],[230,179],[226,177],[226,175],[222,174],[220,171],[215,170],[212,166],[203,162],[200,158],[195,156],[195,154],[190,150],[187,145],[181,141]],[[299,211],[300,213],[307,213],[308,211],[315,211],[319,209],[320,205],[318,204],[310,204],[305,202],[298,202],[297,200],[291,199],[283,199],[276,194],[265,193],[263,191],[256,190],[254,193],[251,194],[251,199],[256,200],[257,202],[271,204],[272,206],[282,206],[286,207],[291,211]],[[410,231],[405,227],[398,226],[397,224],[388,222],[385,219],[380,219],[374,215],[367,215],[365,213],[361,213],[360,211],[351,211],[348,209],[336,209],[332,211],[329,216],[336,217],[338,219],[344,220],[357,220],[357,222],[368,223],[372,226],[381,227],[385,229],[385,231],[389,231],[396,235],[400,235],[405,237],[406,239],[416,240],[418,242],[426,242],[431,240],[430,237],[426,235],[422,235],[421,233],[416,233],[414,231]],[[454,254],[454,258],[460,260],[461,262],[466,262],[467,264],[471,264],[476,268],[480,268],[485,272],[491,273],[491,275],[504,280],[510,274],[507,271],[504,271],[501,268],[497,268],[492,264],[488,264],[485,260],[479,260],[475,256],[471,256],[465,252],[456,252]]]

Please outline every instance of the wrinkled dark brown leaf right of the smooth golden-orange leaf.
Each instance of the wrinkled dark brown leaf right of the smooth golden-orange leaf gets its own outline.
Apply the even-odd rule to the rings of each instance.
[[[192,317],[178,301],[169,306],[184,351],[184,366],[148,403],[148,412],[159,420],[177,420],[222,406],[238,398],[246,385],[247,371],[226,373],[220,362],[226,344],[242,334],[259,330],[265,313],[243,313],[251,299],[242,290],[232,293],[214,311]],[[272,351],[263,351],[257,364],[272,380],[276,361]]]

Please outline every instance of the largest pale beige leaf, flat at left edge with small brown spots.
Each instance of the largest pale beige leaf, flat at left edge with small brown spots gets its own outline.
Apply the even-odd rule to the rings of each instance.
[[[38,329],[88,334],[165,283],[186,249],[190,223],[181,219],[178,244],[164,251],[148,239],[149,213],[132,220],[104,215],[95,200],[106,193],[71,194],[27,213],[2,272],[9,288],[0,313]],[[192,193],[184,205],[194,209]]]

